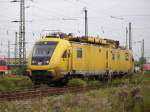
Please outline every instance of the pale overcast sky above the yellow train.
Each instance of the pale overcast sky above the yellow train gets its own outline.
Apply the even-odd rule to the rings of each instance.
[[[0,55],[7,55],[7,41],[15,41],[19,30],[19,3],[0,0]],[[84,7],[88,10],[89,35],[119,40],[125,45],[125,29],[132,22],[133,52],[150,56],[150,0],[25,0],[27,52],[40,36],[59,30],[84,35]],[[115,18],[111,18],[114,16]],[[49,30],[49,31],[47,31]],[[11,45],[13,57],[14,45]]]

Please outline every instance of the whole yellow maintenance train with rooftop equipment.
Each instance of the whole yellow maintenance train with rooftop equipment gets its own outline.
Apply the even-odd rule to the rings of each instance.
[[[133,69],[131,50],[120,47],[118,41],[96,37],[46,36],[35,43],[28,60],[32,80],[44,83],[74,77],[111,78]]]

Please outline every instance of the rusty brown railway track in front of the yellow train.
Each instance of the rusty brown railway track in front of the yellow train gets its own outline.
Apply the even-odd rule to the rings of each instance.
[[[79,93],[92,89],[98,89],[99,87],[50,87],[47,89],[29,89],[24,91],[6,92],[0,93],[0,102],[15,101],[15,100],[27,100],[36,97],[47,97],[51,95],[62,95],[64,93]]]

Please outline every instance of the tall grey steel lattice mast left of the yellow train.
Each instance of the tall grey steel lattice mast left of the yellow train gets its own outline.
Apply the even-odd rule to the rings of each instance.
[[[25,1],[20,0],[20,26],[19,26],[19,63],[26,64],[25,46]]]

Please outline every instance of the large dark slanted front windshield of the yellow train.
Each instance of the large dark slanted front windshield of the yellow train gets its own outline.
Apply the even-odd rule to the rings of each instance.
[[[34,45],[32,54],[32,64],[49,64],[57,42],[37,42]]]

